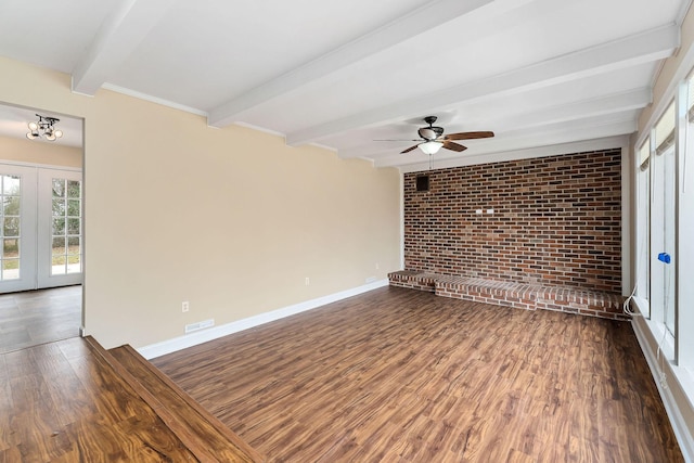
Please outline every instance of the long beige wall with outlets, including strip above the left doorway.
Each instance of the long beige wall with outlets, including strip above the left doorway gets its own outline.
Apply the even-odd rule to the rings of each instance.
[[[74,94],[69,76],[16,61],[0,59],[0,101],[85,118],[86,329],[107,348],[399,268],[395,169],[111,91]]]

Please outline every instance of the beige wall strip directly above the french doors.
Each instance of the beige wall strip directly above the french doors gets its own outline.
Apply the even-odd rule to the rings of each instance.
[[[2,160],[81,168],[82,150],[27,139],[0,137],[0,162]]]

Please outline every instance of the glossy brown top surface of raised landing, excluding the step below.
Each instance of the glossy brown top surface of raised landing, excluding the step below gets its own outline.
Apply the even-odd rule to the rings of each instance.
[[[7,394],[0,462],[197,461],[98,355],[76,343],[85,342],[0,355]]]

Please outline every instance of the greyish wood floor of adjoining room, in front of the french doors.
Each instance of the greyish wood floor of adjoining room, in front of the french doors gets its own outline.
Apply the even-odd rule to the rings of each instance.
[[[79,336],[80,285],[0,295],[0,352]]]

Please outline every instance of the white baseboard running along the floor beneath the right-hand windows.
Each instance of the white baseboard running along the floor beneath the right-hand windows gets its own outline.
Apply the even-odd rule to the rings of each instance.
[[[645,321],[643,323],[645,323]],[[634,333],[637,334],[637,339],[639,339],[639,345],[641,346],[641,350],[646,358],[646,362],[648,363],[648,368],[651,369],[651,374],[653,375],[653,380],[655,381],[658,393],[660,394],[660,398],[663,399],[665,411],[670,419],[670,424],[672,425],[674,437],[680,445],[680,450],[682,450],[684,461],[692,463],[694,462],[694,436],[692,435],[692,429],[687,425],[686,420],[684,420],[682,413],[680,412],[680,407],[686,407],[689,406],[689,403],[678,403],[674,396],[672,395],[672,391],[670,390],[670,387],[663,387],[660,385],[660,371],[658,368],[657,355],[651,348],[652,344],[648,343],[648,339],[646,337],[650,334],[643,331],[642,324],[640,324],[635,319],[631,321],[631,325]],[[677,375],[673,374],[671,365],[668,366],[668,371],[666,372],[666,374],[668,375],[668,385],[679,387],[679,384],[673,384],[678,381]]]

